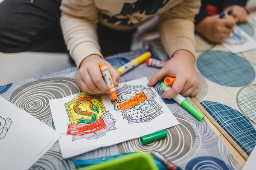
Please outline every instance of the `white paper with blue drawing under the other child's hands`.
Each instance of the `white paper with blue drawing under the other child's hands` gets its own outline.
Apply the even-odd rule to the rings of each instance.
[[[256,49],[256,41],[238,26],[235,26],[230,37],[224,40],[223,45],[232,53],[240,53]]]

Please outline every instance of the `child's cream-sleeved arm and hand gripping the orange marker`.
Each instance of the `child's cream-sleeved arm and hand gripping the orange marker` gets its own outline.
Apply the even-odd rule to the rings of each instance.
[[[63,0],[61,4],[61,29],[70,56],[79,68],[76,82],[86,93],[109,93],[102,79],[99,64],[105,62],[115,86],[120,75],[105,61],[97,37],[98,10],[94,0]]]

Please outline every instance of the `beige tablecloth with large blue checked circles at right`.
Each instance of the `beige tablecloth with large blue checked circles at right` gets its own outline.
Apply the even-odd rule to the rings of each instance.
[[[253,39],[256,21],[239,25]],[[196,35],[198,102],[249,156],[256,145],[256,50],[232,54]],[[154,48],[166,58],[160,40]]]

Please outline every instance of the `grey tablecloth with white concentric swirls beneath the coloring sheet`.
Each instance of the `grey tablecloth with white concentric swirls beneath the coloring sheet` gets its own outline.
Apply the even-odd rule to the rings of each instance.
[[[166,59],[164,56],[165,54],[157,53],[152,46],[146,46],[143,49],[129,53],[117,54],[107,57],[106,59],[115,68],[118,68],[131,59],[143,54],[145,51],[151,51],[153,58],[162,60]],[[203,68],[204,67],[202,66],[202,69]],[[147,65],[143,63],[123,75],[120,82],[140,77],[147,77],[150,79],[157,70],[157,68],[147,67]],[[54,124],[52,122],[48,99],[57,99],[81,92],[76,85],[76,73],[77,69],[75,67],[67,68],[52,74],[44,74],[24,81],[0,86],[0,96],[22,108],[42,122],[45,122],[50,127],[53,127]],[[249,79],[246,77],[243,78],[246,80]],[[201,76],[201,81],[202,80],[206,82],[206,80]],[[215,105],[220,105],[216,102],[214,103],[215,105],[213,105],[214,100],[209,103],[205,102],[211,101],[210,99],[205,100],[205,97],[208,94],[207,91],[209,89],[209,85],[202,85],[203,86],[200,86],[198,99],[201,99],[201,101],[203,101],[202,103],[208,108],[209,106],[214,107]],[[155,89],[161,95],[162,91],[159,88],[159,84],[155,86]],[[242,90],[241,95],[246,94],[248,89],[250,88],[248,87]],[[199,96],[201,96],[201,98]],[[203,98],[204,100],[202,100]],[[191,102],[189,98],[187,99]],[[145,146],[140,144],[139,139],[134,139],[111,147],[103,147],[93,150],[70,159],[62,158],[59,144],[56,143],[41,159],[39,159],[37,163],[32,166],[31,169],[73,170],[76,169],[76,165],[72,162],[73,159],[90,159],[128,152],[149,153],[151,150],[160,151],[175,164],[187,170],[204,167],[211,167],[213,170],[241,169],[239,164],[235,161],[233,156],[231,156],[227,148],[205,120],[199,122],[194,116],[180,107],[180,105],[178,105],[173,99],[163,98],[163,101],[180,122],[180,125],[167,129],[168,138]]]

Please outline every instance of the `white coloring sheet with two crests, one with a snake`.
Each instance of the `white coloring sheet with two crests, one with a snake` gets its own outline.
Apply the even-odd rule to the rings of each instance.
[[[115,110],[109,94],[101,96],[105,109],[100,102],[100,96],[90,95],[91,98],[94,97],[91,102],[88,102],[90,96],[85,96],[85,94],[49,100],[55,128],[63,134],[59,139],[62,156],[69,158],[99,147],[111,146],[180,124],[154,88],[149,88],[147,83],[148,79],[144,77],[119,84],[119,87],[116,88],[117,96],[118,101],[123,104],[123,110],[128,105],[123,102],[131,101],[130,98],[135,98],[134,96],[138,97],[134,100],[135,102],[131,101],[136,106],[125,111],[119,111],[118,107]],[[72,100],[73,102],[70,102]],[[115,103],[115,105],[120,106],[119,104]],[[75,110],[81,114],[76,113]],[[87,112],[81,112],[81,110]],[[97,115],[96,122],[90,125],[84,124],[84,121],[92,121],[94,116],[84,116],[83,114],[92,113]],[[74,125],[78,121],[80,124]],[[104,122],[105,127],[100,124],[100,121]],[[94,133],[89,131],[87,132],[89,134],[81,134],[85,133],[85,130],[76,129],[76,127],[89,128],[95,123],[99,123],[96,127],[102,129],[96,130]],[[79,135],[71,135],[75,133]]]

